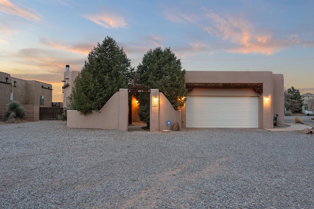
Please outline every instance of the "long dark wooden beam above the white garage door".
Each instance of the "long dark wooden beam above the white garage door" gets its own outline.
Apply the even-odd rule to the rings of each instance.
[[[190,92],[194,88],[210,89],[247,89],[252,88],[255,92],[263,92],[262,83],[185,83],[185,88]]]

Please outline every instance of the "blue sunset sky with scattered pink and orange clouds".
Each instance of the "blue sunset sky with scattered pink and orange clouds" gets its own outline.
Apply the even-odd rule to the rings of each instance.
[[[314,93],[314,0],[0,0],[0,71],[52,84],[106,36],[136,69],[170,47],[185,70],[272,71]]]

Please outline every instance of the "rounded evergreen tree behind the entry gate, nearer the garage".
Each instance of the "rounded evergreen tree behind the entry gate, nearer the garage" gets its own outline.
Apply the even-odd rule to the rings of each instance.
[[[150,49],[137,66],[137,84],[143,84],[151,89],[159,89],[164,93],[175,110],[185,103],[185,70],[176,55],[165,48]],[[149,95],[138,93],[140,118],[149,125]]]

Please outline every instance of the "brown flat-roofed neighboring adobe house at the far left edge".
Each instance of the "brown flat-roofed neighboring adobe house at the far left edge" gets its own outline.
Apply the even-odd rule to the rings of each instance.
[[[22,105],[52,107],[51,84],[14,78],[8,73],[0,72],[0,90],[0,105],[7,105],[14,100]]]

